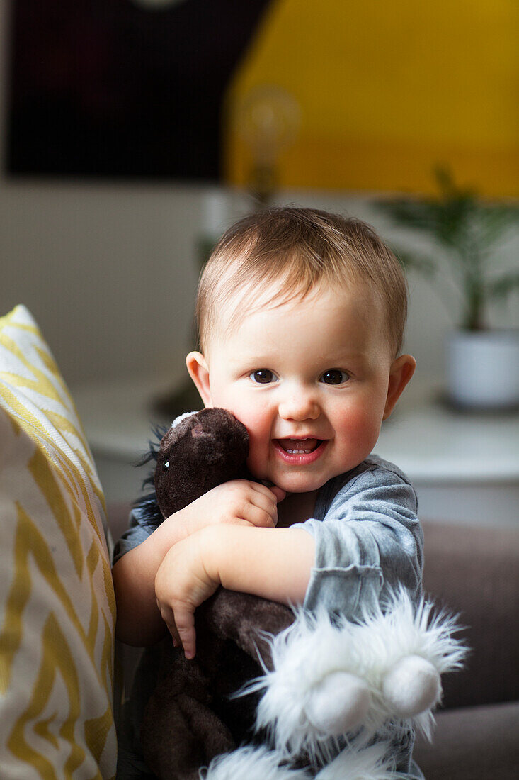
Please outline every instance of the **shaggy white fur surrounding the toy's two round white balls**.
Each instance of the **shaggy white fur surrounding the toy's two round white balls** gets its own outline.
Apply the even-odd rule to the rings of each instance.
[[[432,615],[432,611],[433,605],[423,599],[415,606],[401,588],[384,612],[377,605],[358,623],[345,619],[332,623],[324,611],[316,615],[297,612],[292,626],[270,637],[274,671],[253,680],[242,691],[264,691],[256,727],[268,729],[284,755],[305,751],[311,757],[330,760],[340,749],[337,732],[330,736],[330,732],[316,728],[308,713],[320,687],[337,672],[354,675],[369,692],[369,707],[357,727],[362,725],[373,733],[388,722],[401,721],[383,694],[388,672],[402,659],[418,656],[441,675],[459,668],[466,654],[453,636],[458,630],[455,617],[446,612]],[[351,701],[345,705],[345,709],[351,707]],[[337,709],[337,702],[332,706]],[[340,717],[334,717],[341,722]],[[433,715],[425,711],[406,722],[429,735]]]

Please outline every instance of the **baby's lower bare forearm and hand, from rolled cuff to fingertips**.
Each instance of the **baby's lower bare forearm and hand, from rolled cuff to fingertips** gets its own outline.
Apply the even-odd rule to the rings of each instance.
[[[157,606],[185,657],[196,651],[194,613],[219,585],[282,604],[302,604],[315,544],[301,528],[207,526],[175,544],[155,578]]]

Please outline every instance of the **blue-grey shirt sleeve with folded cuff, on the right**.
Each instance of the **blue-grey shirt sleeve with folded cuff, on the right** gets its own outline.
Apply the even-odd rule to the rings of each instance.
[[[399,585],[418,599],[423,535],[416,512],[415,490],[396,467],[372,462],[343,484],[321,519],[299,524],[316,544],[304,607],[323,605],[355,619]]]

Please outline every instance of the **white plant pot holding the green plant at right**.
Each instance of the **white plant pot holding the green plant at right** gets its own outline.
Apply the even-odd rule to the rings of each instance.
[[[455,406],[467,409],[519,405],[519,330],[451,333],[447,395]]]

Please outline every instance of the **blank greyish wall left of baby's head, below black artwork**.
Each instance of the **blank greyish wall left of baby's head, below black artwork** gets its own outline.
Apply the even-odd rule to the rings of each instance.
[[[30,308],[72,383],[175,362],[198,205],[189,188],[4,184],[0,310]]]

